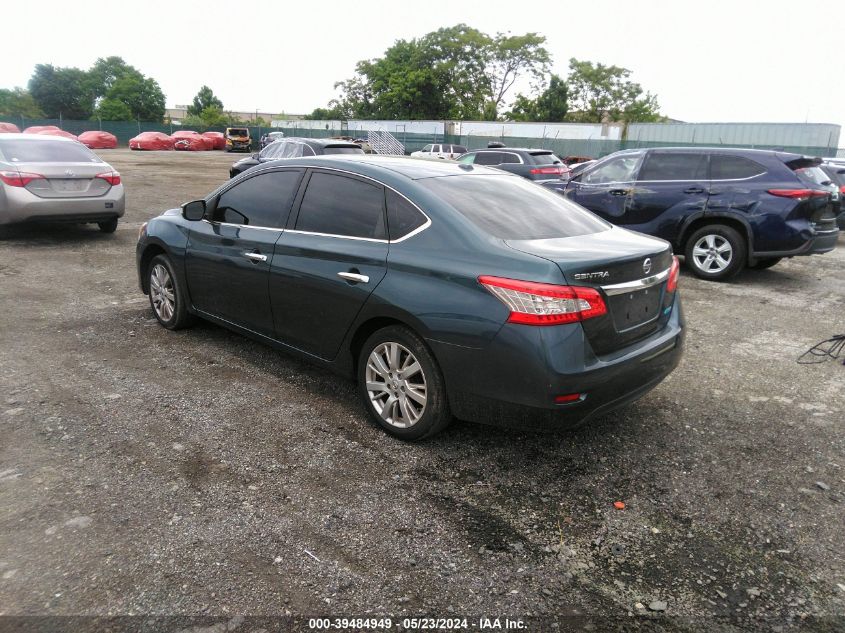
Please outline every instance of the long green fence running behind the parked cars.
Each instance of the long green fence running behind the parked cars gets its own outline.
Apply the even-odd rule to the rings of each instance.
[[[172,134],[181,129],[196,129],[198,132],[217,131],[222,132],[225,128],[212,127],[207,129],[201,128],[183,128],[179,125],[165,125],[162,123],[152,123],[146,121],[67,121],[59,119],[0,119],[8,123],[14,123],[21,130],[31,127],[33,125],[55,125],[61,129],[72,134],[81,134],[87,130],[103,130],[114,134],[121,145],[126,145],[129,139],[136,136],[140,132],[164,132],[165,134]],[[304,136],[307,138],[328,138],[332,136],[358,136],[365,134],[361,130],[348,130],[346,128],[340,129],[309,129],[297,128],[296,125],[284,128],[258,127],[249,126],[250,135],[253,138],[253,147],[258,147],[258,139],[261,135],[267,132],[283,131],[287,136]],[[487,147],[490,141],[498,141],[510,147],[531,147],[538,149],[552,150],[558,156],[589,156],[592,158],[600,158],[619,151],[620,149],[630,149],[639,147],[689,147],[690,143],[663,143],[663,142],[647,142],[647,141],[608,141],[608,140],[593,140],[593,139],[559,139],[559,138],[523,138],[523,137],[490,137],[490,136],[457,136],[450,134],[416,134],[396,132],[394,136],[402,144],[405,145],[405,151],[411,153],[422,149],[430,143],[451,143],[455,145],[463,145],[468,149],[478,149]],[[712,145],[712,144],[709,144]],[[795,152],[798,154],[808,154],[810,156],[835,156],[836,148],[830,147],[796,147],[783,145],[730,145],[729,147],[743,147],[749,149],[777,149],[785,152]]]

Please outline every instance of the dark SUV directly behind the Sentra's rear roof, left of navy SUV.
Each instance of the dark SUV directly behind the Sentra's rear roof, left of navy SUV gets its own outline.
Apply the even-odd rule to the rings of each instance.
[[[547,149],[493,147],[476,149],[458,157],[459,163],[487,165],[533,180],[563,193],[569,180],[569,167]]]

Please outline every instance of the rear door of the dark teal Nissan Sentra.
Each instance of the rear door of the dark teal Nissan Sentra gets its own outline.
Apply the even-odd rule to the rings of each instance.
[[[352,174],[313,170],[273,253],[276,337],[333,359],[386,272],[384,188]]]

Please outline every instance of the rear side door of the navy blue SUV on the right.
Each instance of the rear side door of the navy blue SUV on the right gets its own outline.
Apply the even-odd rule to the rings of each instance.
[[[684,220],[707,208],[707,165],[707,152],[649,151],[617,223],[675,242]]]

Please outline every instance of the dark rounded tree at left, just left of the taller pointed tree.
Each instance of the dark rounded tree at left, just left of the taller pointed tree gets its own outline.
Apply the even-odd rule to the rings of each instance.
[[[78,68],[36,64],[29,93],[50,119],[87,119],[94,110],[94,95],[87,79],[87,73]]]

